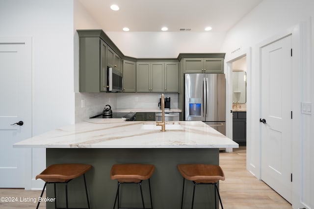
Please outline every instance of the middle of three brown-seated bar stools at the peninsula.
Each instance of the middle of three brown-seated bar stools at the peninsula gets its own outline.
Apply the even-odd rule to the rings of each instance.
[[[118,199],[118,209],[120,209],[119,187],[121,184],[138,184],[139,185],[140,191],[141,191],[143,209],[145,209],[143,192],[142,192],[142,181],[147,180],[147,179],[148,179],[149,193],[150,193],[150,198],[151,198],[151,209],[153,209],[150,178],[153,175],[154,170],[155,170],[155,165],[151,165],[151,164],[114,164],[112,165],[111,171],[110,171],[110,179],[118,180],[118,188],[117,188],[117,193],[114,200],[113,209],[116,206],[117,199]]]

